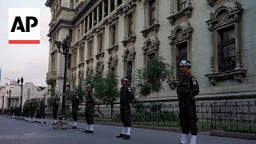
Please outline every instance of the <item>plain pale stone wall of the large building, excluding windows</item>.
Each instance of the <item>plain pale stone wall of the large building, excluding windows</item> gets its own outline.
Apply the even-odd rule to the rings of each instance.
[[[63,0],[62,0],[63,1]],[[78,1],[80,2],[80,1]],[[247,98],[246,96],[255,95],[256,90],[256,76],[254,71],[256,70],[255,65],[255,50],[256,50],[256,28],[255,28],[255,17],[256,17],[256,2],[250,0],[240,0],[238,1],[242,5],[242,12],[238,14],[242,14],[241,20],[238,21],[234,28],[238,30],[240,33],[238,35],[234,35],[238,38],[241,45],[237,46],[236,49],[240,49],[239,54],[241,54],[241,64],[242,66],[239,70],[246,70],[246,73],[238,72],[237,75],[241,74],[242,78],[238,78],[237,75],[230,76],[230,72],[228,72],[228,77],[223,78],[222,76],[214,77],[214,80],[211,77],[206,77],[208,74],[217,74],[218,62],[216,63],[216,59],[218,59],[218,55],[216,54],[216,49],[213,49],[214,46],[217,45],[218,41],[218,30],[212,32],[208,29],[209,25],[207,22],[210,20],[210,14],[217,14],[217,11],[221,8],[221,6],[230,7],[232,10],[235,10],[238,5],[235,5],[235,1],[232,0],[215,0],[213,3],[208,3],[207,0],[197,0],[192,1],[188,0],[186,3],[186,7],[192,7],[193,10],[186,11],[185,15],[178,17],[180,12],[178,12],[178,0],[170,1],[170,0],[161,0],[156,1],[156,24],[159,24],[158,30],[151,30],[146,37],[143,36],[143,31],[146,28],[149,28],[149,12],[148,6],[149,3],[146,0],[141,1],[122,1],[122,5],[118,6],[116,10],[111,12],[106,18],[103,18],[101,22],[98,22],[96,26],[92,29],[88,30],[85,34],[84,32],[80,34],[78,37],[78,30],[82,30],[81,22],[86,18],[88,14],[91,13],[92,10],[96,6],[98,6],[99,2],[95,1],[92,6],[87,8],[86,11],[80,15],[79,18],[73,18],[74,26],[70,26],[72,32],[72,42],[70,47],[70,54],[72,57],[76,59],[76,63],[74,63],[74,58],[72,59],[73,65],[70,69],[70,78],[68,78],[68,82],[70,82],[70,86],[78,85],[78,78],[86,78],[86,70],[94,69],[97,65],[97,62],[102,61],[104,64],[103,72],[109,70],[109,58],[117,58],[117,69],[116,74],[118,77],[126,75],[125,63],[123,62],[123,55],[126,49],[133,49],[136,54],[133,59],[133,72],[132,72],[132,85],[134,85],[134,71],[146,66],[146,56],[143,54],[143,47],[146,46],[146,42],[150,39],[154,41],[159,41],[159,47],[157,53],[162,57],[166,58],[166,62],[170,63],[171,66],[174,67],[173,72],[176,72],[176,60],[175,54],[177,53],[178,42],[174,42],[174,44],[170,44],[172,40],[170,38],[174,38],[175,30],[178,30],[178,27],[184,27],[186,29],[191,30],[187,34],[188,37],[184,38],[183,41],[187,42],[187,57],[192,62],[191,73],[198,79],[198,83],[200,86],[200,94],[198,98]],[[210,1],[209,1],[210,2]],[[84,3],[86,4],[86,2]],[[135,5],[134,5],[135,4]],[[134,7],[134,8],[130,8]],[[121,10],[121,7],[123,10]],[[128,8],[128,12],[125,12],[126,8]],[[126,14],[130,11],[134,12],[134,36],[136,36],[136,40],[134,42],[128,42],[126,46],[123,46],[122,41],[126,39]],[[232,11],[230,10],[230,11]],[[238,10],[238,9],[236,9]],[[118,12],[122,11],[122,12]],[[78,12],[76,12],[78,14]],[[114,20],[112,22],[112,18],[118,16],[118,20]],[[170,19],[174,18],[174,22],[171,23]],[[217,16],[216,16],[217,18]],[[70,19],[68,17],[67,19]],[[96,20],[96,18],[95,18]],[[108,20],[108,22],[105,22]],[[110,22],[111,21],[111,22]],[[110,54],[108,53],[108,49],[110,49],[111,44],[110,40],[112,38],[110,26],[113,23],[116,23],[116,36],[117,36],[117,44],[118,50],[113,50]],[[85,22],[84,22],[85,23]],[[234,22],[235,23],[235,22]],[[101,26],[104,27],[103,30],[100,30]],[[83,24],[85,27],[85,24]],[[225,27],[225,26],[224,26]],[[84,29],[84,28],[83,28]],[[150,30],[150,29],[147,29]],[[104,56],[99,56],[98,60],[95,58],[98,53],[98,34],[102,33],[103,35],[103,50]],[[68,34],[68,31],[60,29],[58,30],[58,37],[62,39],[65,34]],[[236,34],[236,33],[235,33]],[[54,34],[53,34],[54,35]],[[50,36],[53,37],[53,35]],[[237,37],[238,36],[238,37]],[[178,37],[177,37],[178,38]],[[183,37],[182,37],[183,38]],[[216,41],[214,41],[216,38]],[[88,42],[92,41],[93,45],[93,60],[87,57],[88,55]],[[175,39],[174,39],[175,41]],[[176,39],[177,41],[177,39]],[[238,43],[238,42],[236,42]],[[50,45],[51,46],[51,45]],[[83,51],[80,50],[81,47]],[[238,48],[239,47],[239,48]],[[175,52],[176,51],[176,52]],[[75,53],[74,53],[75,52]],[[84,54],[83,62],[80,62],[80,53]],[[58,54],[57,67],[58,71],[63,71],[63,59],[62,56]],[[213,58],[215,57],[215,58]],[[213,60],[214,59],[214,60]],[[214,64],[212,62],[215,62]],[[212,67],[215,67],[214,70]],[[238,66],[237,66],[238,67]],[[234,71],[237,71],[238,68],[235,68]],[[216,72],[217,70],[217,72]],[[238,71],[239,71],[238,70]],[[49,70],[50,72],[50,70]],[[62,74],[58,72],[58,74]],[[58,75],[57,74],[57,75]],[[80,76],[78,76],[80,74]],[[82,74],[82,76],[81,76]],[[244,75],[243,75],[244,74]],[[243,78],[243,76],[245,76]],[[57,76],[58,77],[58,76]],[[177,77],[177,76],[176,76]],[[174,80],[178,78],[175,77]],[[234,78],[235,77],[235,78]],[[62,89],[62,78],[59,77],[57,80],[58,89]],[[160,97],[162,99],[176,99],[176,90],[175,90],[175,82],[166,82],[163,84],[164,90],[160,92]],[[172,89],[171,86],[174,86]],[[151,94],[147,99],[155,99],[156,94]]]

